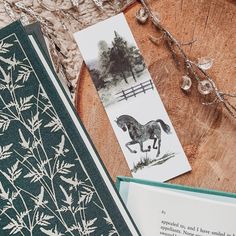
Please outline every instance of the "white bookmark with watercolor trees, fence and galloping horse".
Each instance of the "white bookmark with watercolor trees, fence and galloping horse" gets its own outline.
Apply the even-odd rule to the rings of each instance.
[[[74,37],[133,176],[166,181],[191,170],[124,15]]]

